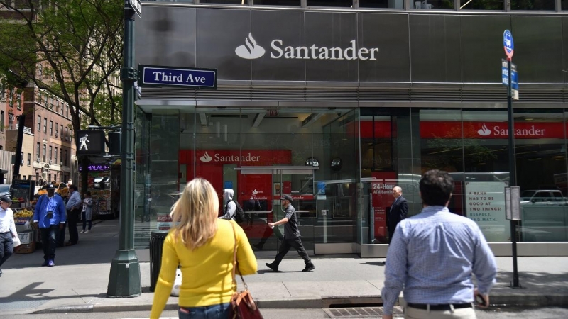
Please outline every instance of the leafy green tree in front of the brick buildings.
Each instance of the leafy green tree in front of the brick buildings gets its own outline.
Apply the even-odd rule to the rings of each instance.
[[[82,114],[90,125],[101,125],[102,114],[105,125],[121,122],[121,99],[111,88],[121,67],[123,6],[121,0],[0,0],[9,9],[0,16],[0,73],[65,101],[77,149]]]

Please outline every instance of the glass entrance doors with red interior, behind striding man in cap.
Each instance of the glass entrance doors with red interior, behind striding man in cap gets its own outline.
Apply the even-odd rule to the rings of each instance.
[[[314,228],[317,221],[314,198],[314,171],[317,167],[237,167],[239,203],[246,214],[243,229],[257,256],[273,257],[284,237],[284,225],[275,228],[268,223],[285,217],[280,197],[292,196],[302,243],[309,254],[314,250]]]

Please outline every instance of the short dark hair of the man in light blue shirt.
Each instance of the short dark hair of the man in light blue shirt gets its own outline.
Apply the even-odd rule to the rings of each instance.
[[[432,169],[420,179],[420,196],[427,206],[446,206],[454,191],[454,179],[448,172]]]

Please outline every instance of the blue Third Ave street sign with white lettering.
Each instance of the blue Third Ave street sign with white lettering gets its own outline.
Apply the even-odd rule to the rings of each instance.
[[[140,65],[138,85],[217,89],[217,69]]]

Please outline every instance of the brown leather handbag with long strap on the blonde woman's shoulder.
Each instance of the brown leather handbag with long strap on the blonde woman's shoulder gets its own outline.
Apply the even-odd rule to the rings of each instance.
[[[258,307],[256,306],[256,303],[253,300],[253,296],[251,295],[251,292],[249,291],[249,286],[246,286],[246,282],[244,281],[243,275],[241,275],[241,272],[239,272],[239,276],[241,276],[241,280],[243,281],[243,285],[244,285],[244,290],[241,290],[239,292],[239,290],[236,287],[236,278],[235,278],[235,272],[236,269],[239,267],[239,265],[236,263],[236,232],[235,232],[235,226],[233,225],[233,223],[231,223],[231,226],[233,227],[233,234],[235,237],[235,249],[234,249],[234,255],[233,255],[233,285],[235,287],[235,292],[233,293],[233,296],[231,297],[231,309],[229,309],[229,318],[230,319],[236,319],[236,318],[242,318],[242,319],[263,319],[263,316],[261,315],[261,311],[258,310]]]

